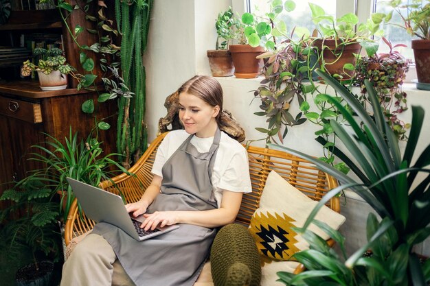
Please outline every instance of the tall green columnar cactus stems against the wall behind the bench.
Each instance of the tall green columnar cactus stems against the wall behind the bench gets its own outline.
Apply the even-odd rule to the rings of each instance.
[[[123,165],[127,169],[147,147],[144,123],[146,73],[142,57],[148,39],[152,0],[139,3],[129,5],[125,1],[115,1],[115,6],[118,6],[115,8],[118,10],[117,23],[122,30],[121,69],[124,82],[120,85],[124,93],[128,91],[127,86],[130,86],[129,91],[135,93],[132,98],[120,97],[118,104],[117,150],[125,156]]]

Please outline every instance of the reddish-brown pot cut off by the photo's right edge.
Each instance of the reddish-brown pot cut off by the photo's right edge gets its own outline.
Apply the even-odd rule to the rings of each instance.
[[[430,84],[430,40],[412,40],[418,82]]]

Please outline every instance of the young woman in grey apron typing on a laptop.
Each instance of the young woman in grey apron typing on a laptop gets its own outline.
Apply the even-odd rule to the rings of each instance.
[[[218,81],[194,76],[179,88],[179,106],[185,130],[163,140],[150,186],[126,210],[135,217],[144,214],[145,230],[180,227],[136,241],[115,226],[97,224],[67,259],[61,285],[111,285],[113,272],[124,270],[137,286],[196,281],[216,228],[234,222],[251,181],[245,148],[218,128],[223,110]],[[116,260],[120,267],[113,267]]]

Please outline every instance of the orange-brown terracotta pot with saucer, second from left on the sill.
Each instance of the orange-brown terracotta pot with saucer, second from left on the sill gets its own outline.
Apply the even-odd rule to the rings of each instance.
[[[260,75],[263,61],[256,58],[264,52],[263,47],[250,45],[229,45],[236,78],[256,78]]]

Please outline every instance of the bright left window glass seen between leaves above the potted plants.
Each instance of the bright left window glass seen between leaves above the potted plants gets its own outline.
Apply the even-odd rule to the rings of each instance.
[[[258,16],[264,16],[270,10],[270,2],[268,0],[249,0],[250,12]],[[283,1],[284,2],[284,1]],[[306,27],[310,33],[313,32],[316,25],[312,22],[310,8],[308,2],[317,4],[324,8],[326,14],[331,16],[336,15],[336,1],[327,0],[300,0],[295,2],[295,10],[293,12],[282,12],[279,19],[286,23],[288,32],[291,32],[293,27]]]

